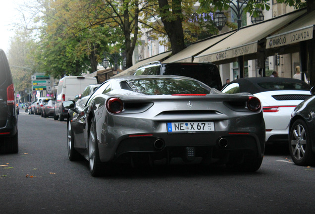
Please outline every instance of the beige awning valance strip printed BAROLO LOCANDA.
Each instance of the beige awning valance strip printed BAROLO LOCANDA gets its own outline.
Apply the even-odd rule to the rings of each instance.
[[[314,25],[267,37],[266,49],[313,39]]]

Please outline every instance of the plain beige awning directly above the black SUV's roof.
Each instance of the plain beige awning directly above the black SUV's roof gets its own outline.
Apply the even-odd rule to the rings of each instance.
[[[165,63],[169,62],[192,62],[192,56],[196,56],[202,53],[204,50],[211,48],[213,45],[217,44],[221,40],[225,39],[226,37],[232,35],[236,31],[230,31],[228,33],[211,36],[205,40],[196,42],[185,48],[184,50],[180,51],[179,53],[172,55],[168,59],[166,59]]]

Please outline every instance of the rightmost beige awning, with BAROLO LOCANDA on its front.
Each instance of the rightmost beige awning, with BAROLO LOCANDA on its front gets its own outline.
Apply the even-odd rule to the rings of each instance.
[[[315,11],[312,11],[283,28],[277,34],[267,37],[266,49],[313,39],[314,26]]]

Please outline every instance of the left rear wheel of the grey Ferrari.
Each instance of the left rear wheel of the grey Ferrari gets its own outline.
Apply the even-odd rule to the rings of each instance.
[[[102,170],[95,124],[95,119],[92,118],[89,132],[89,165],[92,176],[100,175]]]

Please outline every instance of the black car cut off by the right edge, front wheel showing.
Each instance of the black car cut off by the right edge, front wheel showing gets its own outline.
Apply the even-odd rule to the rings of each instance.
[[[295,107],[289,125],[289,151],[297,165],[315,164],[315,87],[311,94]]]

